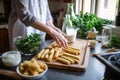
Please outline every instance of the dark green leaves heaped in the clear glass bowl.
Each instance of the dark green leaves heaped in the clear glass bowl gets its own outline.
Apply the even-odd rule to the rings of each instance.
[[[17,38],[15,41],[16,47],[23,54],[38,53],[41,43],[40,34],[31,34],[23,38]]]

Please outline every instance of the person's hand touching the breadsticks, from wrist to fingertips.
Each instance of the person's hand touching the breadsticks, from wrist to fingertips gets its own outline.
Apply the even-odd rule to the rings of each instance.
[[[66,48],[68,46],[67,39],[65,38],[65,36],[63,35],[63,32],[61,30],[52,29],[50,35],[53,37],[53,39],[55,39],[57,41],[57,43],[61,47]]]

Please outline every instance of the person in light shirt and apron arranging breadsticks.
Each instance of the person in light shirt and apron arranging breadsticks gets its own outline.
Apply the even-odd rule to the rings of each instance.
[[[47,0],[12,0],[11,7],[8,22],[11,49],[15,37],[31,33],[41,34],[43,41],[48,33],[60,46],[67,47],[64,33],[53,24]]]

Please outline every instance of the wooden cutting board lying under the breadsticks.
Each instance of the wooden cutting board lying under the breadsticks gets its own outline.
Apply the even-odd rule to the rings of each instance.
[[[72,71],[85,71],[88,65],[88,59],[89,59],[89,53],[90,53],[88,40],[77,39],[75,43],[72,43],[69,45],[81,50],[81,53],[79,55],[80,62],[78,64],[66,65],[56,61],[53,61],[53,62],[45,62],[44,60],[39,60],[39,61],[45,62],[50,68],[65,69],[65,70],[72,70]],[[36,56],[34,58],[37,59]]]

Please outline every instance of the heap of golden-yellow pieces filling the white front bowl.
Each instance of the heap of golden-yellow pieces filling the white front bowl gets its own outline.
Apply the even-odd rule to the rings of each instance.
[[[38,62],[35,59],[24,61],[20,64],[19,70],[23,75],[35,76],[42,73],[46,69],[44,63]]]

